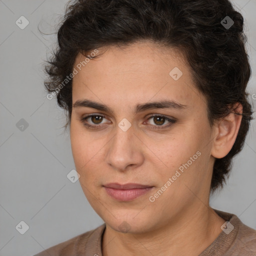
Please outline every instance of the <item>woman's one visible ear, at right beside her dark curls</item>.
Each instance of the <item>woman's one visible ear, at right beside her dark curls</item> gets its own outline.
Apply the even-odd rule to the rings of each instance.
[[[242,105],[237,102],[231,107],[231,112],[227,116],[215,122],[211,149],[213,157],[222,158],[231,150],[241,124],[241,114]]]

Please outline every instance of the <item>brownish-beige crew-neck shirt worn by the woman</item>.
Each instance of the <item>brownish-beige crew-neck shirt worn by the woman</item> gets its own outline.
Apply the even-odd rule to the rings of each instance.
[[[223,226],[223,231],[198,256],[256,256],[256,230],[243,224],[234,214],[214,210],[229,223]],[[34,256],[102,256],[104,230],[105,223]]]

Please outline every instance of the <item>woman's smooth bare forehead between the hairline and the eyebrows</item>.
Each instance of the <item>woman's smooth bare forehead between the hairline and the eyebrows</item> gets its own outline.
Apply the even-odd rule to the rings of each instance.
[[[169,98],[186,105],[201,103],[177,49],[137,42],[98,51],[102,54],[86,63],[84,55],[76,56],[74,67],[80,63],[80,70],[73,77],[73,102],[84,95],[112,105]]]

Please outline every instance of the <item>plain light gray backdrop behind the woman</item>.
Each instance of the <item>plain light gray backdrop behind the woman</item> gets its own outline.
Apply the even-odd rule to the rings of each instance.
[[[246,23],[252,69],[247,90],[255,110],[256,0],[233,2]],[[43,88],[42,63],[56,36],[38,28],[54,32],[66,3],[0,0],[0,256],[33,255],[103,223],[79,182],[66,177],[75,168],[69,130],[62,128],[65,116],[55,97],[48,100]],[[15,23],[21,15],[29,21],[24,29]],[[20,126],[22,118],[28,127]],[[226,186],[210,204],[256,229],[255,120],[251,124]],[[24,234],[15,228],[21,220],[29,226]]]

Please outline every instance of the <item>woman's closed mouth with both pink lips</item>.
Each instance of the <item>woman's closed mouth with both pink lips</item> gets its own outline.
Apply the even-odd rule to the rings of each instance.
[[[127,184],[118,184],[118,183],[108,183],[103,185],[106,193],[112,198],[119,201],[131,201],[153,188],[150,185],[143,185],[137,183],[127,183]]]

